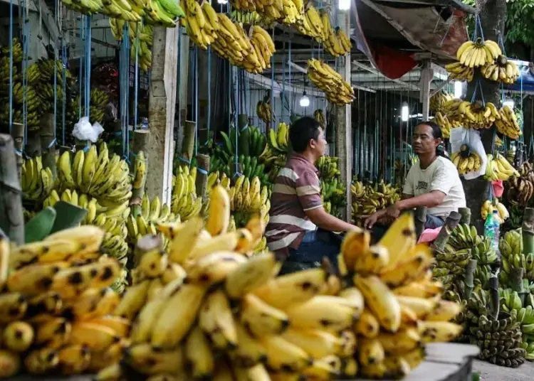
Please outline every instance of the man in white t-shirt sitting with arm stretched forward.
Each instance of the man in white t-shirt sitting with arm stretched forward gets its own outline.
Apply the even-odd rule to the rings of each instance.
[[[422,122],[414,128],[412,146],[419,156],[408,172],[402,190],[402,200],[389,208],[378,210],[365,220],[368,229],[375,222],[393,220],[403,210],[419,206],[428,208],[426,229],[434,229],[444,225],[444,221],[452,211],[466,206],[464,187],[456,166],[444,157],[441,140],[441,129],[434,122]]]

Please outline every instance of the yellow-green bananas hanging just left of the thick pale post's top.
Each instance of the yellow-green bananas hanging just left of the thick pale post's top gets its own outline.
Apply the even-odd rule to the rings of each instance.
[[[130,58],[132,63],[135,63],[135,55],[137,54],[137,62],[141,70],[145,73],[152,66],[152,42],[154,38],[154,28],[152,25],[135,21],[124,21],[120,18],[110,18],[110,28],[115,40],[122,41],[124,26],[128,23],[128,37],[130,38]],[[139,38],[139,41],[137,41]],[[137,53],[138,52],[138,53]]]

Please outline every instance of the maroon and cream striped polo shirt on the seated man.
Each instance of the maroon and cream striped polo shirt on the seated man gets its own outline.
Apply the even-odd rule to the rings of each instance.
[[[306,210],[321,208],[318,170],[304,156],[293,153],[276,177],[266,228],[269,249],[289,254],[298,249],[305,232],[317,230]]]

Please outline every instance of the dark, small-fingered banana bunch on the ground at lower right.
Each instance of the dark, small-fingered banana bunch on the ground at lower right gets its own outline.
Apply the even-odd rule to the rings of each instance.
[[[489,363],[518,367],[525,362],[526,350],[522,348],[523,336],[515,316],[501,312],[497,320],[488,317],[491,304],[487,291],[477,288],[457,321],[464,325],[463,341],[481,348],[478,358]]]

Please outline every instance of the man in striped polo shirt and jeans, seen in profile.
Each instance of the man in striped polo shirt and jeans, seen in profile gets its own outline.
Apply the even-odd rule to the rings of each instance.
[[[266,228],[269,249],[286,256],[283,274],[317,267],[323,257],[336,264],[340,245],[320,239],[318,227],[327,232],[358,229],[323,208],[315,168],[327,144],[320,124],[312,117],[298,119],[291,125],[289,141],[293,152],[276,177]]]

